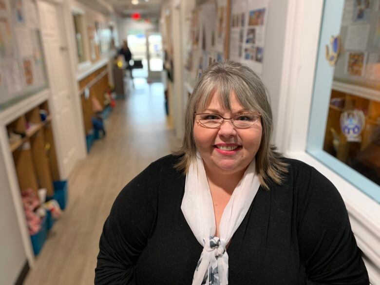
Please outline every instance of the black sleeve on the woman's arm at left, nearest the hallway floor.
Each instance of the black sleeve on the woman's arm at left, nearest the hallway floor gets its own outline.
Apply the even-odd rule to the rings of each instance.
[[[95,285],[135,284],[134,266],[154,220],[150,206],[153,176],[148,167],[117,196],[100,237]]]

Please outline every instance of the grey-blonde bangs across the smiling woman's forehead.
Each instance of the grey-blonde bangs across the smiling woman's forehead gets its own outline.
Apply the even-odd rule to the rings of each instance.
[[[196,113],[201,113],[209,105],[213,95],[219,101],[220,106],[225,110],[232,112],[231,94],[236,95],[236,99],[247,112],[261,113],[261,108],[257,102],[251,88],[239,76],[230,76],[228,74],[217,75],[209,80],[204,80],[197,90],[198,99],[195,103]]]

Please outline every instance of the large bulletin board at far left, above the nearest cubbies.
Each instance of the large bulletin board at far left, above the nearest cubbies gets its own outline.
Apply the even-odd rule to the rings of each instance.
[[[0,110],[47,87],[35,0],[0,0]]]

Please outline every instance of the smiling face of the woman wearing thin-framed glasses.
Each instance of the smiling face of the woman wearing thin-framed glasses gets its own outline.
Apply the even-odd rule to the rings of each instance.
[[[230,118],[236,114],[252,113],[245,110],[239,103],[234,92],[231,93],[232,112],[224,109],[217,95],[212,95],[205,110],[197,113],[219,114]],[[194,139],[197,150],[205,163],[205,168],[218,171],[221,174],[242,174],[255,157],[260,147],[262,125],[259,119],[247,129],[237,129],[230,121],[217,129],[209,129],[194,121]],[[222,150],[223,147],[232,147]],[[237,147],[236,149],[234,149]],[[222,148],[222,149],[221,149]]]

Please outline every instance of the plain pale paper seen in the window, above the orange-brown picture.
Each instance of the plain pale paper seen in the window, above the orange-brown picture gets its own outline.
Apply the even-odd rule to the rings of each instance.
[[[349,26],[344,48],[346,50],[365,51],[367,48],[370,27],[370,25]]]

